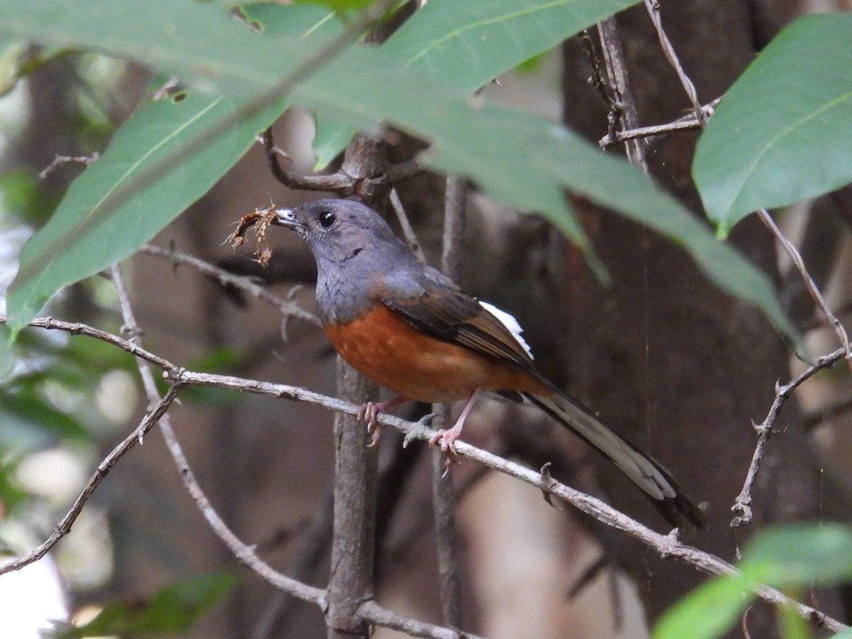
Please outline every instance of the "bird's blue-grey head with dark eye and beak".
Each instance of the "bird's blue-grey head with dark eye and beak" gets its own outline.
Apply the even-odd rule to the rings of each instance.
[[[397,253],[400,245],[376,211],[348,199],[320,199],[295,209],[276,209],[273,223],[291,228],[308,242],[320,268],[343,265],[366,249]]]

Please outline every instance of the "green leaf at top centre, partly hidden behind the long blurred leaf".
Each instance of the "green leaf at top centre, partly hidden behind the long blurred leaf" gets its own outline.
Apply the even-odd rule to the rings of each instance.
[[[431,78],[473,92],[631,4],[636,0],[430,0],[383,49]],[[317,167],[341,153],[354,133],[318,116]]]

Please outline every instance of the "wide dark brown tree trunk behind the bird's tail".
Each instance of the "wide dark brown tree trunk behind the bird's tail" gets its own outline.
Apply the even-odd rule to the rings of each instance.
[[[754,53],[747,5],[683,1],[665,3],[662,13],[700,101],[722,95]],[[619,14],[618,24],[641,124],[680,117],[688,98],[646,9]],[[578,43],[567,43],[564,54],[564,119],[597,140],[606,133],[607,107],[586,83],[589,64]],[[652,141],[648,162],[658,181],[699,210],[689,177],[695,138]],[[786,347],[767,320],[722,293],[665,239],[590,204],[578,209],[613,285],[602,286],[582,262],[569,260],[567,294],[556,299],[573,392],[671,469],[688,494],[709,504],[710,528],[690,543],[733,561],[763,524],[815,515],[809,446],[796,410],[788,407],[782,416],[787,430],[772,440],[763,463],[755,523],[728,527],[755,443],[751,423],[769,409],[775,381],[789,377]],[[773,241],[757,222],[740,224],[731,241],[777,276]],[[613,505],[650,521],[647,504],[625,488],[617,471],[601,464],[599,476]],[[651,554],[644,560],[635,574],[653,619],[700,576]]]

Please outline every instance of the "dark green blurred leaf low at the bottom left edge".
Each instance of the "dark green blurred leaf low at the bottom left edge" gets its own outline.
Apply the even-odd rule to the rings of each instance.
[[[72,630],[60,630],[56,636],[71,639],[187,632],[203,613],[233,590],[236,581],[229,573],[214,573],[171,584],[141,601],[112,602],[88,624]]]

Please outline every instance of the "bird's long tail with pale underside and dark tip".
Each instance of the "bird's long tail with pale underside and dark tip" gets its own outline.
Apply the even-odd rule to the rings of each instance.
[[[521,394],[602,452],[651,499],[652,504],[671,524],[679,526],[686,519],[696,527],[706,526],[704,514],[683,494],[666,469],[598,421],[578,402],[563,394],[554,394],[552,397]]]

